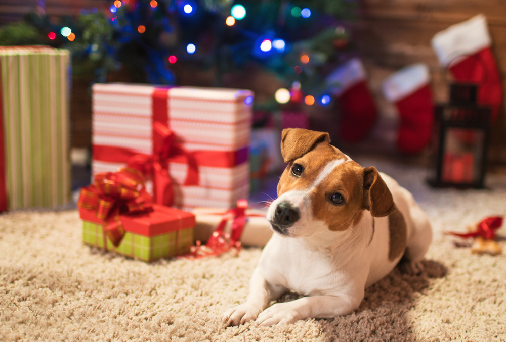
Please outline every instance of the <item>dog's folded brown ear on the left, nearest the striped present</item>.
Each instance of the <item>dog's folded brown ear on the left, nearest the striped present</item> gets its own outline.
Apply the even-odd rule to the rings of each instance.
[[[301,158],[319,143],[330,143],[328,133],[302,128],[285,128],[281,133],[281,155],[288,163]]]

